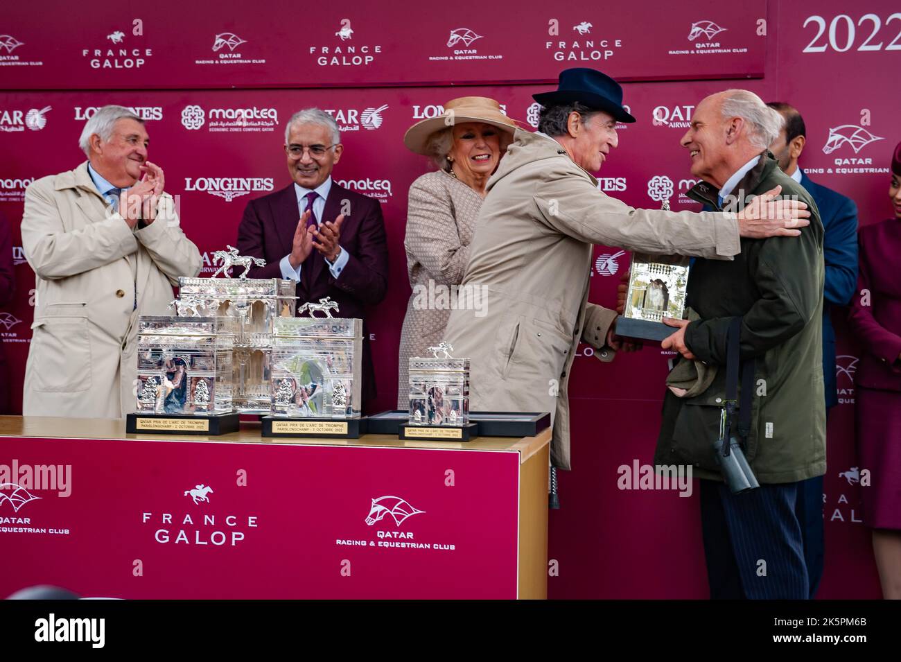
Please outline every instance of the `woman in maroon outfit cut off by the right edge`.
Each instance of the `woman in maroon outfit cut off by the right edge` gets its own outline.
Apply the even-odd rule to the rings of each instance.
[[[901,142],[888,188],[894,215],[860,229],[860,276],[851,332],[860,340],[854,377],[863,523],[873,530],[882,595],[901,599]]]

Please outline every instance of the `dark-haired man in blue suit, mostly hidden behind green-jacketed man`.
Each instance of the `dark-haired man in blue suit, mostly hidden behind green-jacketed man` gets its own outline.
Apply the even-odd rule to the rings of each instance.
[[[785,118],[786,125],[769,150],[779,168],[814,198],[824,227],[825,284],[823,289],[823,378],[826,413],[838,404],[835,384],[835,331],[829,317],[832,304],[847,305],[857,283],[857,205],[831,188],[815,184],[798,167],[804,150],[806,129],[801,113],[789,104],[767,104]],[[823,576],[823,476],[808,478],[797,500],[797,517],[804,534],[810,597]]]

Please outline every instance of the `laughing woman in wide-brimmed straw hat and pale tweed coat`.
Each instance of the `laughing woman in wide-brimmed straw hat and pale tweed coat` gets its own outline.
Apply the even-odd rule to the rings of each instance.
[[[406,147],[431,157],[438,170],[414,181],[407,204],[404,248],[413,295],[400,338],[400,409],[410,403],[410,357],[423,356],[427,347],[443,340],[451,288],[463,279],[488,178],[513,141],[515,129],[516,122],[494,99],[463,96],[444,104],[440,115],[406,131]]]

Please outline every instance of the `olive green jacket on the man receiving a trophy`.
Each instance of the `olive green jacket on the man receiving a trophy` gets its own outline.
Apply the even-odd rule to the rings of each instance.
[[[760,483],[792,483],[825,473],[824,231],[819,212],[769,152],[735,186],[726,206],[733,202],[733,211],[741,210],[777,185],[783,196],[796,195],[808,205],[810,225],[800,237],[742,239],[742,253],[733,261],[696,259],[692,265],[687,304],[700,319],[687,325],[686,345],[696,358],[720,369],[713,384],[695,397],[678,398],[668,390],[655,464],[690,464],[697,477],[722,479],[713,444],[726,391],[726,334],[738,315],[742,361],[755,359],[751,432],[745,445],[751,469]],[[703,181],[688,195],[720,209],[717,190]]]

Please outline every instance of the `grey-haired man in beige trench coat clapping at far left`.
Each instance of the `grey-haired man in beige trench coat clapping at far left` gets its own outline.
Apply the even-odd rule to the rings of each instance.
[[[23,414],[133,412],[138,315],[168,314],[179,276],[200,273],[143,121],[122,106],[89,119],[87,161],[25,191],[22,243],[37,295]]]

